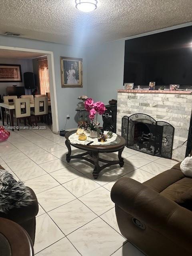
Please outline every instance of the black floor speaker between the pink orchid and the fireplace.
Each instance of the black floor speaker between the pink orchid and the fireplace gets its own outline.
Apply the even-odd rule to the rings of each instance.
[[[106,105],[105,107],[106,107],[106,110],[104,114],[102,114],[103,130],[116,133],[117,105],[116,106]]]

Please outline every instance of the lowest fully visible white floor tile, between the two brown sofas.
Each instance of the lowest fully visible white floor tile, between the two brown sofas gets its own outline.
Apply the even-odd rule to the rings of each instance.
[[[48,213],[65,235],[97,217],[78,199]]]

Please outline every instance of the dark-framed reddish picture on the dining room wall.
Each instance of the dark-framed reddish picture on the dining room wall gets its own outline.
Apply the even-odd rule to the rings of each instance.
[[[22,82],[20,64],[0,64],[0,82]]]

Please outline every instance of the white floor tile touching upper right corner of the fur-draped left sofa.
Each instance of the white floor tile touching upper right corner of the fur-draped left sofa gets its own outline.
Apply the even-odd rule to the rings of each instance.
[[[25,185],[32,188],[35,194],[54,188],[60,185],[52,176],[49,174],[34,178],[32,180],[27,180]]]

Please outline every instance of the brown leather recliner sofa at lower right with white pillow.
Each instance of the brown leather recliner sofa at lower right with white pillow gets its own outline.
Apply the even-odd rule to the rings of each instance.
[[[144,254],[192,255],[192,178],[180,163],[143,184],[118,180],[111,199],[122,235]]]

